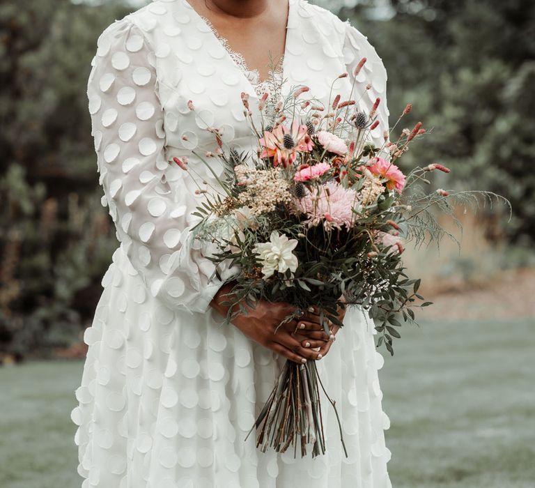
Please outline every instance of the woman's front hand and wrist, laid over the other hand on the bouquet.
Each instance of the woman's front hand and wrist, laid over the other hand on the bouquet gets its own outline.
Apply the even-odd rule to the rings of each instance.
[[[222,296],[228,293],[231,287],[222,287],[214,299],[212,300],[212,307],[219,313],[226,314],[228,307],[221,305],[221,302],[228,300],[228,297]],[[247,305],[245,305],[247,307]],[[321,328],[319,323],[319,315],[313,312],[305,311],[303,317],[284,323],[280,327],[279,323],[288,314],[295,310],[288,303],[269,303],[261,301],[256,304],[256,307],[247,307],[249,313],[239,314],[233,319],[232,323],[238,327],[242,333],[247,335],[249,339],[258,342],[268,349],[281,354],[285,358],[294,361],[295,363],[306,363],[307,359],[320,359],[323,353],[314,351],[311,347],[306,347],[304,344],[306,340],[302,337],[308,337],[307,329],[299,329],[299,324],[304,323],[305,326],[311,328],[317,326],[318,330]],[[299,330],[299,335],[296,332]],[[316,343],[310,337],[309,341]],[[325,341],[323,341],[325,343]]]

